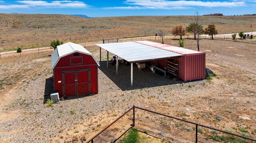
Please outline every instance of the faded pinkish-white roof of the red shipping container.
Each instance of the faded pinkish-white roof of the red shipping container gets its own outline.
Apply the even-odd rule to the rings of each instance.
[[[160,49],[164,49],[164,50],[168,50],[168,51],[172,51],[175,53],[180,53],[182,55],[203,54],[203,52],[200,52],[200,51],[194,51],[194,50],[190,50],[190,49],[175,47],[175,46],[156,43],[156,42],[152,42],[152,41],[134,41],[134,42],[152,46],[152,47],[156,47],[156,48],[160,48]]]

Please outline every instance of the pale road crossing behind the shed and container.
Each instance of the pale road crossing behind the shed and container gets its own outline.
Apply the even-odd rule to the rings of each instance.
[[[254,32],[245,32],[244,34],[250,34],[253,33],[253,35],[256,34],[256,31]],[[230,37],[231,38],[231,35],[234,34],[234,33],[230,33],[230,34],[217,34],[215,37]],[[238,37],[238,33],[236,33],[237,37]],[[193,36],[193,35],[190,35],[190,37]],[[209,35],[201,35],[202,37],[210,37]],[[147,37],[136,37],[136,38],[123,38],[123,39],[120,39],[120,41],[126,41],[126,40],[135,40],[135,39],[138,39],[140,40],[141,38],[149,38],[149,37],[152,37],[152,39],[154,38],[154,36],[147,36]],[[173,36],[168,36],[168,37],[173,37]],[[93,45],[93,44],[100,44],[102,43],[102,41],[93,41],[93,42],[86,42],[86,43],[79,43],[80,45]],[[50,47],[40,47],[39,48],[39,51],[42,50],[42,49],[50,49]],[[25,52],[25,51],[38,51],[38,48],[33,48],[33,49],[23,49],[22,52]],[[4,54],[10,54],[10,53],[16,53],[17,51],[6,51],[6,52],[1,52],[1,55],[4,55]]]

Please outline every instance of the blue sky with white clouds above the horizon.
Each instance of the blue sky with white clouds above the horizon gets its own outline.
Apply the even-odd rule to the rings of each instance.
[[[255,14],[256,0],[0,0],[0,13],[177,16]]]

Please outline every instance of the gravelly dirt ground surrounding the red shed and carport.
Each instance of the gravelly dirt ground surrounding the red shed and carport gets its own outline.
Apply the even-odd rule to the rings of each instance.
[[[178,40],[164,42],[178,46]],[[5,138],[0,142],[88,140],[132,105],[236,134],[242,134],[242,127],[246,129],[246,136],[255,139],[255,47],[249,43],[200,40],[200,51],[206,52],[206,66],[217,74],[212,81],[183,83],[134,67],[134,73],[139,74],[136,76],[147,74],[148,79],[154,80],[154,86],[152,83],[139,85],[140,81],[136,81],[137,88],[124,89],[124,85],[112,81],[113,75],[104,74],[107,71],[102,65],[98,70],[98,94],[64,100],[53,107],[43,101],[45,86],[48,87],[46,81],[52,76],[48,56],[52,51],[0,59],[0,135],[30,135],[30,138]],[[185,48],[196,50],[196,41],[185,39]],[[96,45],[87,49],[99,60]],[[111,68],[115,67],[110,66],[110,71]],[[121,68],[124,68],[123,74]],[[120,66],[116,79],[124,78],[125,68],[128,67]]]

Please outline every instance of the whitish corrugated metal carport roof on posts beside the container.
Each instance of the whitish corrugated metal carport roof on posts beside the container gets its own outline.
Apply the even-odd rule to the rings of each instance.
[[[182,54],[166,51],[136,42],[96,44],[99,47],[125,59],[128,62],[136,63],[152,61],[164,58],[180,57]]]

